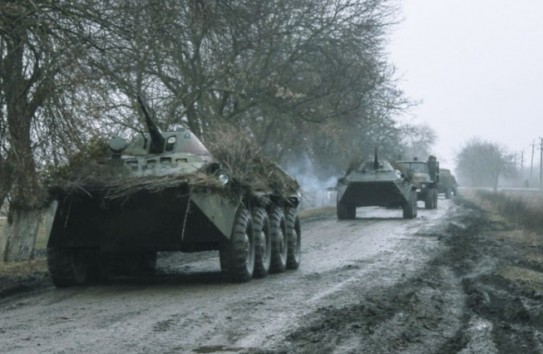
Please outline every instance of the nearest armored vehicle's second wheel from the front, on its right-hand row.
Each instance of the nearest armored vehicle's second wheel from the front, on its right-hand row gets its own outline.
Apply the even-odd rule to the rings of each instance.
[[[268,275],[271,264],[270,218],[264,208],[255,208],[252,215],[255,237],[255,269],[253,276],[263,278]]]

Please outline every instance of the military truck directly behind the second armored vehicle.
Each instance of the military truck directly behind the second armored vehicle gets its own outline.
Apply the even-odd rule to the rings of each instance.
[[[435,156],[428,161],[396,161],[396,167],[417,189],[417,200],[424,201],[426,209],[437,208],[437,185],[439,182],[439,162]]]

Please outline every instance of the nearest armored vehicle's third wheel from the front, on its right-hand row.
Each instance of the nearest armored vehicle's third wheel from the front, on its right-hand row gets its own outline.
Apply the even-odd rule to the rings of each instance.
[[[271,265],[270,272],[281,273],[287,267],[288,233],[283,208],[273,207],[270,215]]]

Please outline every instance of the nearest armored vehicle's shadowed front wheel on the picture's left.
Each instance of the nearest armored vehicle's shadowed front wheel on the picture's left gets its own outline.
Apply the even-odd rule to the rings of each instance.
[[[56,287],[82,285],[87,280],[88,255],[80,249],[48,248],[47,268]]]

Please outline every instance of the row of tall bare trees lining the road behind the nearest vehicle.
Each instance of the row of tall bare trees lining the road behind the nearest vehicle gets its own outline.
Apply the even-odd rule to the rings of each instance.
[[[96,136],[142,129],[138,96],[164,129],[205,142],[234,126],[327,174],[353,151],[431,145],[426,127],[394,120],[410,105],[384,52],[396,13],[393,0],[2,1],[4,258],[32,251],[44,171]]]

